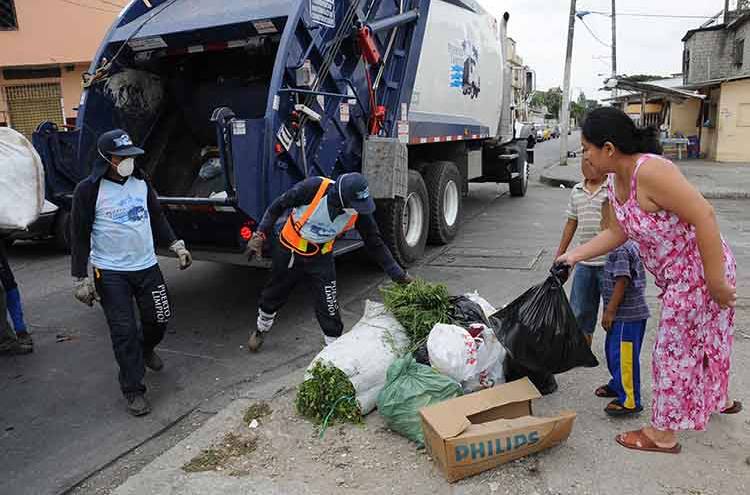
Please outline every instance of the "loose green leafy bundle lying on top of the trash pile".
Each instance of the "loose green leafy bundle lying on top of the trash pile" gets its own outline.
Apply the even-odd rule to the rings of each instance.
[[[385,307],[403,325],[412,348],[422,345],[438,323],[450,321],[450,294],[442,284],[417,279],[381,289]]]

